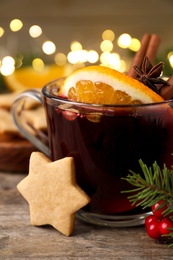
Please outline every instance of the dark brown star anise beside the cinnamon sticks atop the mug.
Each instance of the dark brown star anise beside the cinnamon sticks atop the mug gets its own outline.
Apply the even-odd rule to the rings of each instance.
[[[159,93],[162,86],[168,85],[168,83],[160,77],[163,70],[163,62],[159,62],[153,66],[149,59],[145,57],[141,68],[134,66],[134,69],[137,73],[137,79],[156,93]]]

